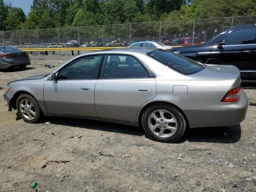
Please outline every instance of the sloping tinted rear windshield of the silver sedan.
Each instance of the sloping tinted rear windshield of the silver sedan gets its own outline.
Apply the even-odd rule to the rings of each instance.
[[[147,55],[184,75],[191,75],[205,68],[204,64],[166,50],[155,50]]]

